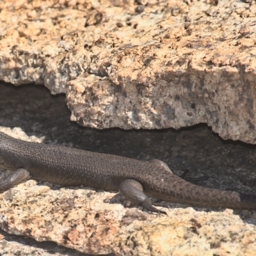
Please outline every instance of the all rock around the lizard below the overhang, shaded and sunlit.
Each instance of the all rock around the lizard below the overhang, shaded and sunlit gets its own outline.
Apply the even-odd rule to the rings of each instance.
[[[12,136],[141,160],[157,158],[165,161],[177,175],[184,169],[189,169],[190,177],[209,175],[209,180],[198,182],[200,186],[255,194],[256,145],[223,141],[207,125],[179,131],[100,131],[68,122],[68,113],[65,95],[50,95],[44,86],[15,87],[0,83],[0,124],[22,128],[1,128]],[[124,208],[122,200],[113,195],[90,188],[60,188],[33,180],[15,186],[0,196],[1,227],[24,236],[6,233],[3,239],[0,236],[0,255],[12,252],[12,255],[81,256],[78,251],[63,246],[82,252],[112,251],[117,255],[124,251],[123,255],[169,256],[185,255],[189,251],[188,255],[255,254],[255,211],[161,202],[170,206],[170,210],[164,208],[169,214],[165,217],[148,215],[134,207]],[[104,227],[106,230],[102,230]],[[88,233],[83,234],[83,229]],[[106,232],[108,235],[102,236]],[[36,242],[33,237],[45,242]],[[120,244],[116,244],[116,239],[120,239]],[[50,242],[46,241],[57,241],[63,246],[51,242],[48,248],[45,244]]]

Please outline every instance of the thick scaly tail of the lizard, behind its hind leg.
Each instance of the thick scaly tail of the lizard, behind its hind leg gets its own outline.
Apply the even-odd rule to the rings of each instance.
[[[203,207],[256,209],[255,195],[197,186],[173,174],[163,161],[153,159],[150,164],[155,168],[150,172],[150,186],[146,186],[149,196]]]

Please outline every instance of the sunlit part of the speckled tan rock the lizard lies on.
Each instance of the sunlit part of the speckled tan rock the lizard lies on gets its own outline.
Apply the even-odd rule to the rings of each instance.
[[[17,128],[0,131],[44,140]],[[6,174],[1,170],[1,177]],[[0,194],[0,200],[0,227],[6,232],[93,255],[254,255],[256,250],[253,211],[234,214],[163,202],[169,209],[162,216],[124,208],[115,193],[35,180]]]

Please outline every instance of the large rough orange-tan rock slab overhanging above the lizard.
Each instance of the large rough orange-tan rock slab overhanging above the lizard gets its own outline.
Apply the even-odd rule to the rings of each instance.
[[[254,1],[1,1],[0,79],[67,92],[72,120],[256,143]]]

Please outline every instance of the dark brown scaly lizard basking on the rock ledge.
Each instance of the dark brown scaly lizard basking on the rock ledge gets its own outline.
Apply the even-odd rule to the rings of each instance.
[[[77,148],[17,140],[0,132],[0,167],[13,170],[0,179],[0,193],[22,180],[35,179],[61,186],[90,186],[119,191],[149,212],[157,209],[150,198],[201,207],[256,209],[256,196],[205,188],[175,175],[158,159],[128,157]]]

